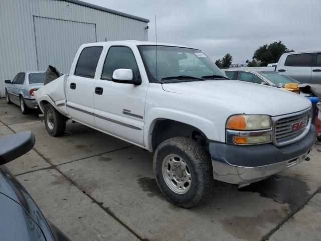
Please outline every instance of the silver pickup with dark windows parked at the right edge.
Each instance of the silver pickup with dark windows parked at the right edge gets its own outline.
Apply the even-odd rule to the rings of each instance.
[[[321,52],[284,53],[275,71],[301,83],[321,84]]]

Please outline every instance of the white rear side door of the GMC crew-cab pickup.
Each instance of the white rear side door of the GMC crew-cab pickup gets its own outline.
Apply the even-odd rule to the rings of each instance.
[[[96,69],[102,53],[102,46],[85,47],[72,67],[67,82],[67,110],[75,121],[95,127],[94,88]]]

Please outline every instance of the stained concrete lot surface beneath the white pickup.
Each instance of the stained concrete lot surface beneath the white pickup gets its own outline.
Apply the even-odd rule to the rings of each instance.
[[[152,154],[77,123],[49,136],[34,112],[0,99],[0,138],[32,130],[36,144],[6,166],[72,240],[319,240],[321,143],[309,161],[242,189],[216,182],[192,209],[159,191]]]

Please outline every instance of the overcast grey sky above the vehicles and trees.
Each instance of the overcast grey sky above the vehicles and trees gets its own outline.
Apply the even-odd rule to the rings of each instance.
[[[83,0],[149,19],[148,40],[201,49],[212,60],[251,59],[261,45],[281,40],[288,49],[320,50],[320,0]]]

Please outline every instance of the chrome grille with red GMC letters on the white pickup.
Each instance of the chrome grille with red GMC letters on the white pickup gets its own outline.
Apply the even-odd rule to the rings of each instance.
[[[274,128],[274,143],[278,146],[289,144],[289,142],[300,139],[304,136],[309,125],[310,110],[302,111],[298,114],[293,114],[277,119]],[[293,124],[297,124],[293,128]]]

